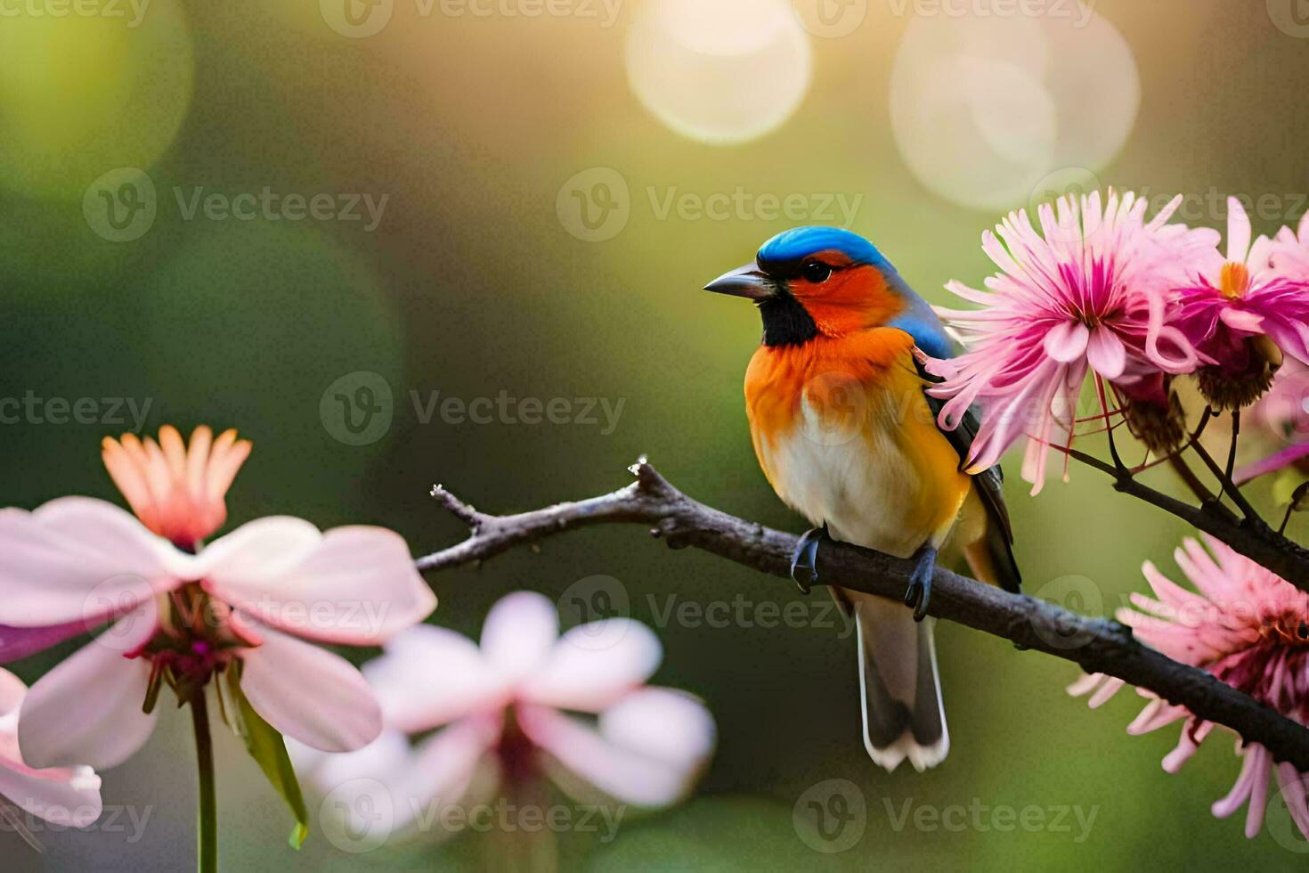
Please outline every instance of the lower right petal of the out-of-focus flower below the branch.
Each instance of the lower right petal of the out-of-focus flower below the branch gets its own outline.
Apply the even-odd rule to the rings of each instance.
[[[598,730],[548,707],[518,709],[524,733],[563,770],[560,785],[579,794],[569,775],[639,806],[666,806],[690,789],[713,747],[704,705],[664,688],[639,691],[601,716]]]

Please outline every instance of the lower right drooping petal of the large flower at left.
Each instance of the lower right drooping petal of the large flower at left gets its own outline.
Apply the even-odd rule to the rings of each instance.
[[[241,690],[263,719],[322,751],[352,751],[382,732],[382,711],[346,658],[258,626],[260,645],[242,653]]]

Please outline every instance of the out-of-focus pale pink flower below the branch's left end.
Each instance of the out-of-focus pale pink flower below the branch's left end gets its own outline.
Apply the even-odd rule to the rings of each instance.
[[[421,827],[415,819],[432,804],[467,810],[539,775],[579,800],[666,806],[690,792],[715,726],[699,699],[645,685],[661,658],[639,622],[603,619],[559,636],[548,598],[509,594],[487,615],[480,648],[428,624],[391,640],[364,666],[389,730],[347,755],[293,746],[297,770],[338,800],[385,792],[340,806],[389,809],[398,831]],[[433,728],[410,747],[404,734]]]

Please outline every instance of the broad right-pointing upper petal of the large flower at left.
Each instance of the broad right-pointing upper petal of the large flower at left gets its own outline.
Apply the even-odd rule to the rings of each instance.
[[[264,518],[212,548],[220,546],[209,561],[209,589],[297,636],[380,645],[436,609],[404,539],[384,527],[338,527],[319,537],[308,522]],[[270,552],[275,558],[264,563]]]

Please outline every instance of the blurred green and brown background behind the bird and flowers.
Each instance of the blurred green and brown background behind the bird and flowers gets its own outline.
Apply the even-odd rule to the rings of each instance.
[[[132,8],[119,5],[131,20]],[[164,423],[237,427],[254,453],[230,493],[234,522],[292,513],[323,527],[381,524],[402,531],[415,554],[463,534],[428,497],[436,482],[480,508],[509,512],[619,487],[641,453],[706,503],[801,530],[759,474],[742,414],[757,318],[698,291],[797,221],[740,207],[721,219],[675,208],[664,215],[658,204],[674,190],[700,202],[738,187],[753,196],[805,195],[810,204],[817,195],[840,194],[847,203],[861,195],[852,228],[933,302],[946,302],[946,280],[977,285],[988,272],[980,232],[1039,196],[1041,185],[977,195],[991,203],[980,205],[924,182],[923,166],[931,170],[937,158],[891,130],[897,52],[922,17],[912,4],[906,12],[902,3],[856,3],[863,13],[850,33],[805,33],[812,76],[797,85],[795,111],[774,119],[776,130],[736,143],[674,131],[634,93],[628,39],[641,5],[622,4],[605,26],[598,4],[593,18],[533,17],[513,4],[488,16],[439,4],[423,16],[401,1],[368,37],[330,26],[340,22],[327,0],[152,0],[137,26],[107,16],[7,13],[0,395],[148,401],[149,431]],[[726,4],[749,30],[754,21],[741,5]],[[1309,127],[1296,103],[1297,82],[1309,76],[1309,42],[1282,14],[1295,10],[1295,0],[1280,5],[1100,3],[1098,16],[1135,59],[1140,103],[1136,111],[1136,80],[1127,77],[1118,119],[1103,122],[1121,126],[1126,143],[1097,147],[1098,157],[1071,177],[1090,171],[1105,185],[1152,195],[1272,194],[1280,205],[1258,216],[1257,229],[1297,219],[1309,191]],[[1123,79],[1113,58],[1096,52],[1071,68],[1063,51],[1049,58],[1051,75],[1063,69],[1084,92],[1056,96],[1060,123],[1085,127],[1059,154],[1094,139],[1094,94],[1101,82]],[[724,82],[711,69],[702,85]],[[907,88],[899,97],[912,111],[912,88]],[[1004,151],[1013,147],[1005,131],[986,128],[1021,126],[1030,102],[1005,93],[999,118],[978,115],[982,98],[973,118],[967,107],[948,116],[999,137]],[[778,109],[768,93],[759,106],[764,115]],[[1041,139],[1039,131],[1031,136]],[[941,127],[940,139],[957,135]],[[105,213],[96,213],[99,190],[115,195],[122,178],[135,178],[97,182],[118,168],[147,173],[157,192],[153,221],[135,240],[115,241]],[[965,170],[970,178],[992,173],[979,157],[962,170],[942,166],[941,177]],[[607,192],[619,199],[603,203],[626,209],[626,223],[617,233],[614,225],[580,226],[569,204],[592,198],[602,205],[606,190],[596,182],[615,174],[626,195],[611,185]],[[179,188],[186,200],[203,188],[232,198],[264,187],[306,199],[325,192],[338,204],[340,195],[367,192],[386,203],[368,229],[363,205],[361,221],[216,220],[203,209],[187,219],[174,195]],[[1206,204],[1189,217],[1220,226],[1225,212]],[[597,233],[607,238],[580,238]],[[352,391],[372,378],[359,373],[377,374],[393,398],[389,428],[367,445],[342,437],[331,398],[322,403],[339,380]],[[600,424],[424,421],[411,391],[424,401],[432,391],[463,401],[504,391],[624,404],[613,428],[602,416]],[[106,420],[107,406],[97,408],[89,423],[21,415],[0,427],[4,504],[30,508],[65,493],[118,500],[98,441],[127,425]],[[1069,484],[1052,476],[1031,499],[1012,467],[1017,551],[1030,592],[1072,590],[1080,599],[1069,605],[1105,613],[1143,588],[1144,559],[1174,569],[1170,554],[1186,533],[1179,524],[1117,497],[1088,470],[1075,470]],[[651,623],[669,597],[708,605],[740,594],[754,606],[800,598],[791,585],[711,556],[670,554],[639,529],[603,529],[432,576],[441,598],[433,620],[475,633],[507,592],[558,597],[596,575],[619,580],[630,613]],[[1069,585],[1069,576],[1085,581]],[[874,768],[860,742],[853,643],[839,627],[818,626],[830,618],[822,599],[814,594],[814,620],[798,628],[657,626],[666,658],[656,681],[706,698],[719,724],[717,754],[689,805],[624,825],[610,844],[563,835],[565,868],[1302,866],[1267,832],[1246,842],[1237,821],[1244,813],[1211,818],[1210,802],[1238,770],[1225,737],[1168,776],[1160,759],[1177,732],[1126,737],[1135,695],[1088,712],[1063,692],[1077,675],[1072,665],[957,626],[937,631],[949,759],[923,775]],[[71,648],[14,669],[31,682]],[[43,832],[46,853],[38,856],[3,832],[5,866],[190,865],[190,738],[177,713],[162,726],[141,754],[105,774],[106,804],[134,805],[139,815],[148,809],[141,839],[131,839],[131,826]],[[355,856],[315,832],[292,852],[288,817],[236,741],[224,738],[220,755],[229,869],[483,863],[476,843],[487,838],[439,853],[408,847]],[[867,828],[853,848],[821,853],[801,839],[792,808],[831,779],[857,785]],[[939,810],[1080,806],[1096,817],[1080,842],[1071,813],[1068,831],[953,832],[912,821],[897,828],[906,801]]]

